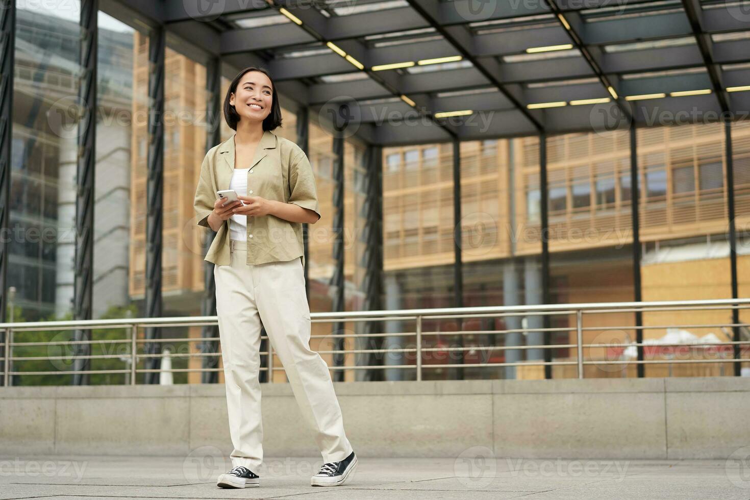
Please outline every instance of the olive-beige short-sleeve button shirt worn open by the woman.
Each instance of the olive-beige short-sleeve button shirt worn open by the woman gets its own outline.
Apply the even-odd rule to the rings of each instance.
[[[205,154],[195,191],[197,224],[208,227],[208,214],[214,210],[217,191],[229,189],[235,164],[235,137],[227,139]],[[280,202],[310,208],[318,214],[317,190],[313,169],[305,151],[289,139],[269,130],[263,133],[248,171],[248,193]],[[248,168],[242,166],[241,168]],[[250,193],[252,191],[252,193]],[[275,215],[248,216],[247,264],[283,262],[302,257],[302,223],[290,222]],[[223,221],[203,259],[215,265],[229,265],[229,220]]]

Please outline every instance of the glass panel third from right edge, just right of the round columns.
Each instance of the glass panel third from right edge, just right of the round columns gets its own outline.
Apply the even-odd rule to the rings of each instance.
[[[550,198],[565,179],[571,206],[550,214],[550,302],[575,304],[631,301],[634,297],[630,207],[630,139],[627,131],[571,133],[547,139]],[[617,184],[615,179],[619,179]],[[553,182],[555,184],[553,184]],[[591,186],[596,206],[591,209]],[[574,346],[574,315],[550,316],[552,344]],[[583,367],[586,378],[634,376],[617,350],[597,347],[634,335],[633,313],[587,313],[583,317]],[[622,349],[619,349],[622,352]],[[575,347],[553,350],[553,379],[577,377]],[[541,367],[539,367],[541,369]],[[543,374],[543,370],[541,370]],[[541,376],[540,376],[541,378]]]

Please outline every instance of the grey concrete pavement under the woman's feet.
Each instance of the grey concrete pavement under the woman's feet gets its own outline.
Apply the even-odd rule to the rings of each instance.
[[[748,460],[505,459],[481,447],[455,459],[359,457],[353,478],[328,488],[310,486],[320,458],[266,457],[260,488],[222,490],[229,463],[214,450],[0,457],[0,499],[750,499]]]

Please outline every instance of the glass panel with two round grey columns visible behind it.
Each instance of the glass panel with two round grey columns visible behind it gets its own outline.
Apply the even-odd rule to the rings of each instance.
[[[493,151],[493,154],[490,154]],[[538,139],[501,139],[461,143],[463,304],[466,307],[539,303],[524,276],[541,274],[539,238]],[[523,325],[535,319],[497,316],[465,319],[463,364],[523,363],[541,358],[524,346]],[[529,345],[539,344],[537,332]],[[460,343],[456,343],[460,346]],[[541,365],[478,366],[463,370],[465,379],[538,378]]]

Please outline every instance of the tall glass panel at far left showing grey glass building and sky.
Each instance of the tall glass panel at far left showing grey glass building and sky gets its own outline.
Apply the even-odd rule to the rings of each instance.
[[[74,297],[80,7],[43,3],[17,7],[7,262],[14,321],[70,319]]]

